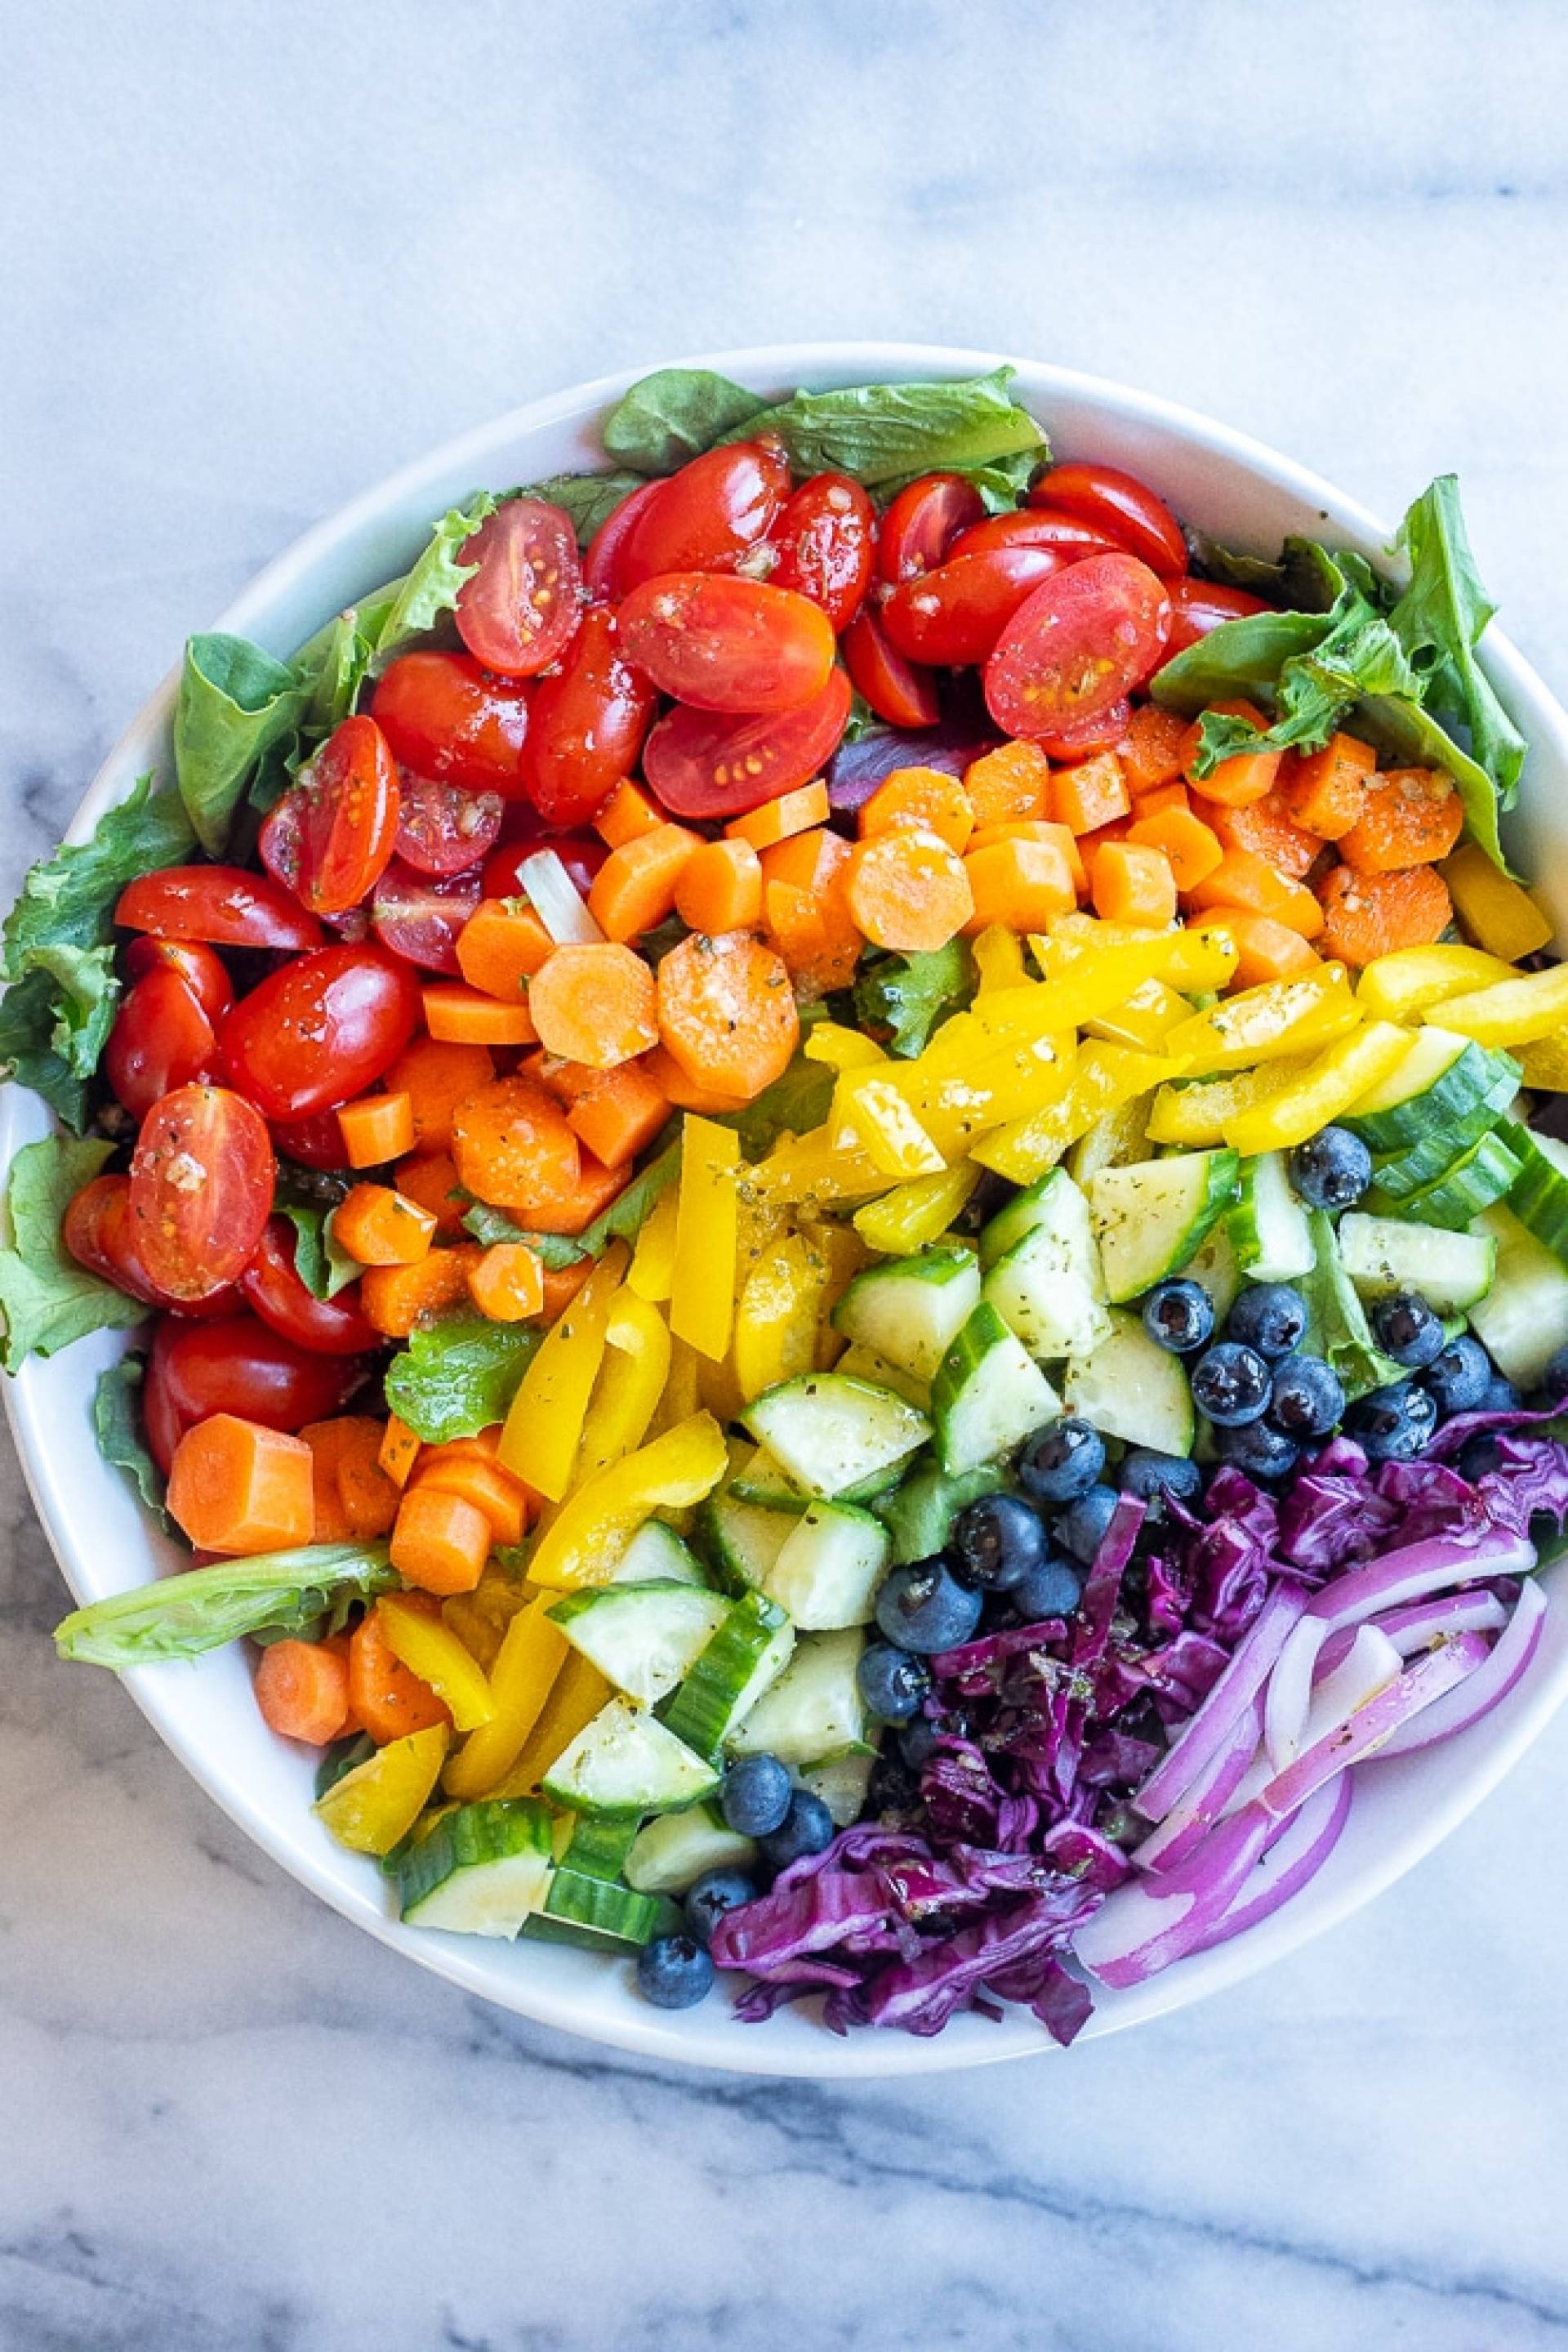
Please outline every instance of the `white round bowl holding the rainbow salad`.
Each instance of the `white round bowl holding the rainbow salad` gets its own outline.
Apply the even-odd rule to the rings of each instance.
[[[966,376],[997,353],[917,343],[802,343],[719,353],[719,367],[757,393],[799,383],[865,383]],[[308,532],[221,616],[219,628],[289,654],[341,604],[402,572],[430,520],[477,487],[505,487],[602,463],[595,428],[609,402],[644,369],[604,376],[531,402],[404,468]],[[1128,393],[1060,367],[1018,362],[1018,397],[1044,421],[1058,454],[1110,459],[1159,489],[1178,515],[1218,539],[1274,553],[1286,532],[1328,536],[1380,557],[1389,532],[1340,492],[1288,459],[1147,393]],[[1418,487],[1418,485],[1413,485]],[[190,616],[193,623],[200,614]],[[1568,915],[1568,715],[1507,644],[1488,640],[1486,668],[1530,741],[1526,800],[1512,842]],[[148,767],[169,769],[174,675],[113,748],[71,826],[85,837],[99,814]],[[1556,856],[1552,856],[1556,851]],[[1563,917],[1559,917],[1561,927]],[[42,1105],[19,1089],[0,1103],[0,1160],[47,1131]],[[31,1362],[7,1383],[7,1411],[33,1501],[80,1602],[141,1583],[176,1552],[150,1531],[118,1470],[99,1461],[89,1428],[96,1374],[120,1352],[108,1334],[49,1364]],[[1552,1581],[1568,1571],[1552,1571]],[[263,1726],[237,1646],[195,1665],[148,1665],[125,1677],[148,1722],[249,1837],[346,1919],[421,1966],[503,2009],[592,2042],[750,2074],[924,2074],[1037,2056],[1053,2044],[1030,2016],[1004,2025],[957,2018],[936,2039],[858,2032],[837,2039],[806,2011],[769,2025],[736,2025],[719,1994],[682,2016],[649,2009],[628,1964],[557,1945],[484,1943],[404,1929],[374,1863],[336,1846],[310,1813],[310,1757]],[[1309,1936],[1359,1910],[1410,1870],[1502,1780],[1568,1696],[1568,1609],[1547,1616],[1530,1672],[1467,1733],[1429,1755],[1361,1773],[1349,1828],[1328,1865],[1272,1919],[1168,1969],[1133,1992],[1100,1992],[1086,2032],[1105,2034],[1234,1985]]]

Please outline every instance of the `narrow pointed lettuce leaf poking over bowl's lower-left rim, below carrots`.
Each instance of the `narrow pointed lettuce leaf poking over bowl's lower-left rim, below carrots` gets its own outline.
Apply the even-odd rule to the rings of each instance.
[[[212,1569],[186,1569],[134,1585],[54,1628],[61,1658],[108,1665],[153,1665],[200,1658],[240,1635],[282,1639],[308,1632],[322,1616],[388,1592],[397,1571],[386,1543],[306,1543],[289,1552],[254,1552]]]

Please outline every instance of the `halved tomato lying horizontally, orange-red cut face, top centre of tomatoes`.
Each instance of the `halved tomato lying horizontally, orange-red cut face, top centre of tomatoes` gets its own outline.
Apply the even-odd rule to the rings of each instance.
[[[693,710],[799,710],[827,684],[832,621],[804,595],[668,572],[621,607],[628,659]]]

